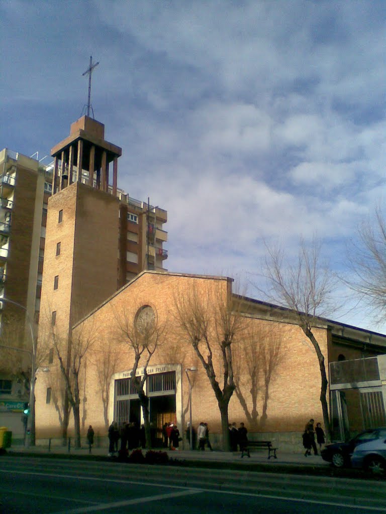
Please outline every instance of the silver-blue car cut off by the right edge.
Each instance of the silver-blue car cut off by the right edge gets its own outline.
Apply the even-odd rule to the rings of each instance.
[[[386,475],[386,428],[378,429],[378,438],[358,445],[351,456],[353,468],[363,468],[376,475]]]

